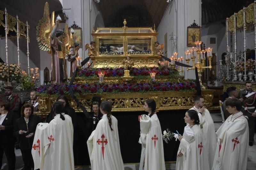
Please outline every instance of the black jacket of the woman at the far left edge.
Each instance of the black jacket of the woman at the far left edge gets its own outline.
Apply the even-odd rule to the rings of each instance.
[[[12,135],[12,132],[13,132],[13,127],[17,118],[18,118],[18,115],[12,111],[10,111],[4,118],[4,122],[2,123],[2,125],[4,126],[5,129],[0,130],[1,145],[10,144],[10,145],[13,145],[14,147],[15,139]]]

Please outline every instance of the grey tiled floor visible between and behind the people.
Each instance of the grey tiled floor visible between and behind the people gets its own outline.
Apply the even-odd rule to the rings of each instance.
[[[212,119],[214,122],[221,122],[221,115],[220,114],[211,114]],[[218,130],[222,123],[214,123],[215,124],[215,130]],[[254,141],[256,141],[256,134],[254,135]],[[15,150],[16,154],[16,170],[21,170],[23,167],[23,161],[21,157],[20,150]],[[175,170],[175,163],[173,164],[165,164],[166,170]],[[126,165],[124,166],[124,170],[139,170],[139,164],[132,164],[132,165]],[[90,167],[84,167],[84,168],[75,168],[76,170],[91,170]],[[3,158],[3,166],[2,170],[7,170],[6,165],[6,158]],[[253,146],[249,146],[249,154],[248,154],[248,162],[247,162],[247,170],[256,170],[256,142],[254,142]]]

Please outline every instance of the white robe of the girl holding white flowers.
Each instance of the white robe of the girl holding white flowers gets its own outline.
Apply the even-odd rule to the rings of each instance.
[[[184,128],[177,155],[176,170],[210,170],[203,134],[199,125]]]

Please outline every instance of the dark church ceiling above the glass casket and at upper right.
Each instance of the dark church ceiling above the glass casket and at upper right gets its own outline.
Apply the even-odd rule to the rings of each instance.
[[[254,0],[202,0],[202,25],[223,20]],[[156,27],[163,18],[168,3],[166,0],[100,0],[97,3],[106,27],[127,26]]]

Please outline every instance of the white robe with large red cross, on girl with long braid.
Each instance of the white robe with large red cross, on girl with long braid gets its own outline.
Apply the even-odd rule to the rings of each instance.
[[[92,170],[124,170],[120,151],[117,119],[111,115],[112,129],[107,115],[103,115],[87,140]]]

